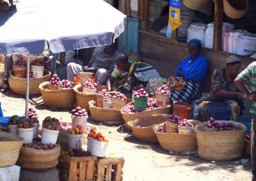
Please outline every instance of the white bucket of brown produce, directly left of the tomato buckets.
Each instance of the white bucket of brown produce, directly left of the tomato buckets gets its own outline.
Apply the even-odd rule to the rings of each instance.
[[[46,129],[43,127],[41,142],[43,144],[52,143],[52,145],[54,145],[57,142],[59,133],[60,133],[60,131],[50,130],[50,129]]]

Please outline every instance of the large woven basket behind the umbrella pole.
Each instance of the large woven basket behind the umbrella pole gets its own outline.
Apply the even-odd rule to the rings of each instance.
[[[44,69],[44,76],[40,78],[29,78],[29,94],[40,94],[40,89],[38,89],[40,83],[49,81],[51,78],[51,71],[48,69]],[[15,92],[16,94],[26,94],[26,84],[27,79],[26,78],[17,78],[13,76],[12,70],[10,71],[10,77],[9,77],[9,85],[12,92]]]

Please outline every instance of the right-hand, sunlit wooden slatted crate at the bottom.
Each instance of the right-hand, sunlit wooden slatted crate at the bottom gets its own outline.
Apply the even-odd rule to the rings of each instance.
[[[98,158],[96,181],[123,180],[123,158]]]

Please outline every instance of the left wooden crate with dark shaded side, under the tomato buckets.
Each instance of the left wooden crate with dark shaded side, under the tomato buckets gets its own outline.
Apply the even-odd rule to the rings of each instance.
[[[67,173],[68,178],[60,174],[61,180],[77,181],[77,165],[79,165],[79,180],[94,180],[97,166],[97,157],[91,156],[84,150],[74,150],[74,157],[61,154],[58,168],[62,173]]]

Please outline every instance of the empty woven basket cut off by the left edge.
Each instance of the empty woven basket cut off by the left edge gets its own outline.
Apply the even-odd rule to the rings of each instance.
[[[24,139],[12,133],[0,131],[0,167],[17,162]]]

